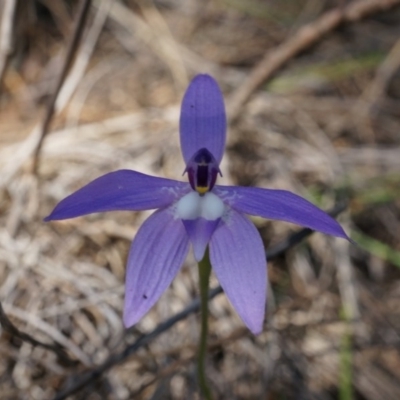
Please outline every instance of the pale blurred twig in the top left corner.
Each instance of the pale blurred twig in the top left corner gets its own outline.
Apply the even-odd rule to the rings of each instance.
[[[10,54],[12,53],[13,27],[17,0],[5,0],[0,25],[0,85],[3,82]]]

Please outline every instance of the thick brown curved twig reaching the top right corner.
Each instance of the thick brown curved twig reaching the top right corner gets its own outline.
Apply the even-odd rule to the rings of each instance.
[[[300,28],[285,42],[268,51],[248,78],[233,92],[228,102],[229,118],[232,121],[235,120],[241,107],[251,94],[270,79],[283,65],[300,52],[320,41],[324,35],[336,29],[340,24],[358,21],[368,15],[388,10],[399,4],[400,0],[353,1],[345,7],[327,11],[316,21]]]

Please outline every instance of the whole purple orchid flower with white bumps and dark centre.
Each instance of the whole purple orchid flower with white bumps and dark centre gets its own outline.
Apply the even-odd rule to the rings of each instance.
[[[347,239],[341,226],[285,190],[218,186],[226,136],[224,100],[209,75],[198,75],[182,101],[180,142],[189,182],[120,170],[62,200],[45,221],[113,210],[157,209],[133,240],[126,270],[124,323],[138,322],[167,289],[190,244],[200,261],[209,246],[213,270],[233,307],[255,334],[262,330],[266,258],[246,214],[302,225]]]

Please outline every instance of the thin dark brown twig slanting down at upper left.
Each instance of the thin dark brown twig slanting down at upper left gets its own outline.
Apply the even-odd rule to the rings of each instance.
[[[60,75],[58,76],[58,79],[57,79],[57,85],[52,93],[51,99],[46,108],[46,113],[44,115],[42,124],[40,126],[40,139],[36,145],[36,149],[35,149],[34,157],[33,157],[33,166],[32,166],[33,173],[37,172],[37,169],[39,166],[40,150],[42,148],[44,138],[46,137],[46,134],[48,132],[51,118],[53,117],[53,114],[54,114],[55,104],[56,104],[58,94],[61,90],[63,82],[67,76],[69,69],[70,69],[72,60],[74,59],[74,55],[78,48],[79,41],[82,37],[83,29],[86,25],[86,20],[89,15],[89,9],[90,9],[91,3],[92,3],[91,0],[81,0],[79,3],[79,9],[77,11],[77,19],[75,22],[75,26],[73,29],[73,33],[72,33],[70,42],[68,43],[67,51],[65,54],[65,60],[64,60],[62,69],[60,71]]]

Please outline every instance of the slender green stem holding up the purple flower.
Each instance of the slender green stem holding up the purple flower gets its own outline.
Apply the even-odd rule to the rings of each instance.
[[[212,400],[211,390],[207,384],[205,371],[205,359],[207,354],[207,333],[208,333],[208,286],[210,280],[211,263],[208,249],[199,262],[199,284],[200,284],[200,311],[201,311],[201,332],[199,343],[199,354],[197,359],[197,374],[201,393],[206,400]]]

